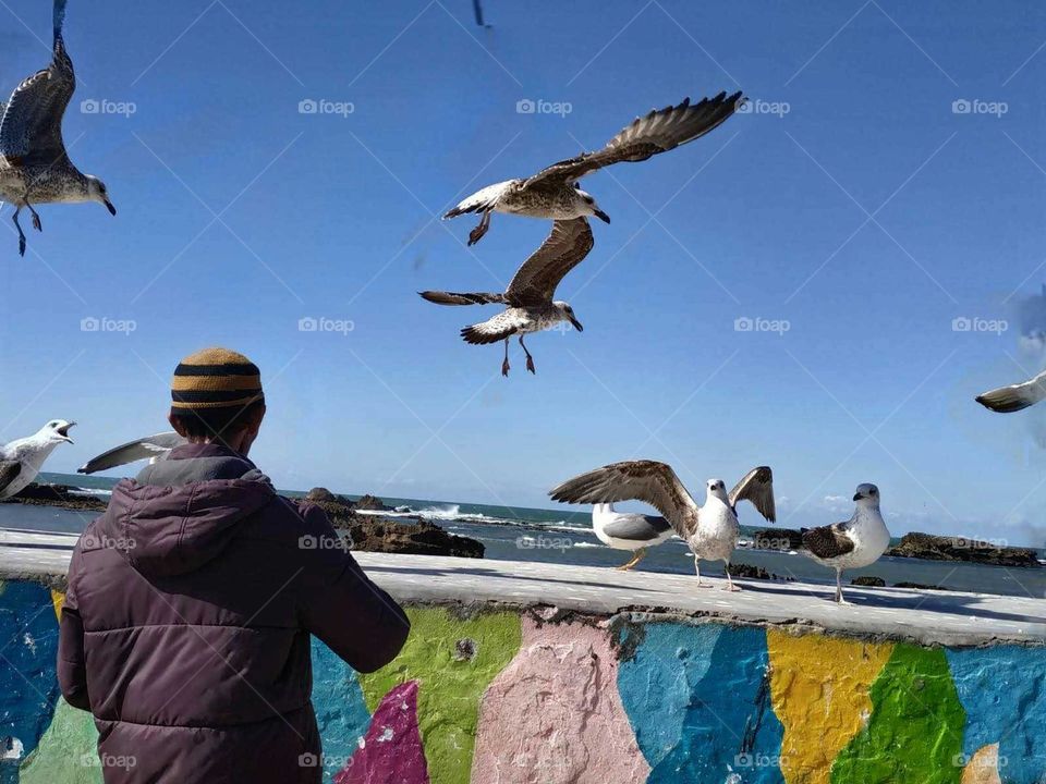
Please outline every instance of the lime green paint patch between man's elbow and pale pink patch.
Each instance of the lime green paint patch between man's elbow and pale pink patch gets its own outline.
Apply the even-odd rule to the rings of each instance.
[[[469,781],[479,700],[520,650],[515,613],[469,620],[445,609],[410,608],[411,636],[400,656],[376,673],[360,674],[372,713],[394,686],[418,682],[417,720],[433,784]]]

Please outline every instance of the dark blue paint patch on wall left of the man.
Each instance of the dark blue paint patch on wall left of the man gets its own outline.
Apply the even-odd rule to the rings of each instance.
[[[36,748],[54,714],[60,694],[57,657],[58,618],[50,589],[29,581],[3,584],[0,738],[17,738],[23,758]]]

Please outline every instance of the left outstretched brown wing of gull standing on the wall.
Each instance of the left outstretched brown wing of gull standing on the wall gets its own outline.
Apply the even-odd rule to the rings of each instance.
[[[656,461],[612,463],[568,479],[549,492],[562,503],[645,501],[665,515],[683,539],[694,532],[697,504],[672,467]]]

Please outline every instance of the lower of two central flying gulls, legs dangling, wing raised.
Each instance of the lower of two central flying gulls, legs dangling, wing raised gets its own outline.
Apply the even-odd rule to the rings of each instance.
[[[534,357],[526,350],[523,335],[539,332],[561,321],[570,321],[579,332],[584,330],[574,316],[574,309],[564,302],[552,301],[556,286],[592,250],[592,228],[584,218],[558,220],[542,246],[516,271],[504,294],[458,294],[454,292],[419,292],[422,297],[437,305],[486,305],[496,303],[508,307],[483,323],[465,327],[461,336],[466,343],[484,345],[504,341],[504,362],[501,375],[509,375],[509,338],[520,336],[526,354],[526,369],[535,372]]]

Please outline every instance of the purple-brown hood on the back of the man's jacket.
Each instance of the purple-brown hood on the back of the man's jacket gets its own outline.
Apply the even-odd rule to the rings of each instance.
[[[217,558],[239,524],[276,498],[251,461],[218,444],[187,444],[113,488],[81,548],[114,548],[143,575],[186,574]]]

